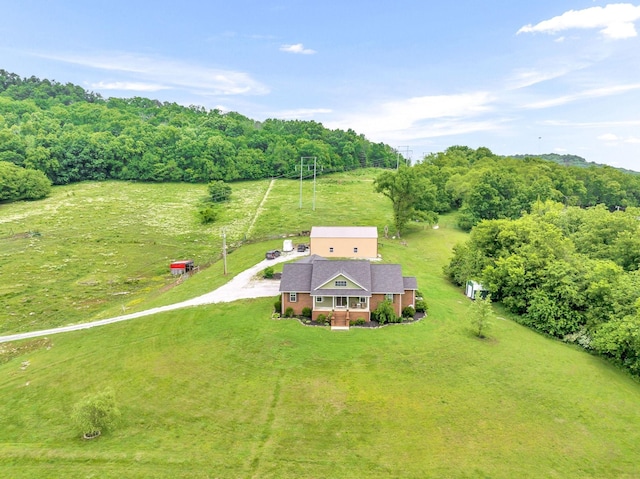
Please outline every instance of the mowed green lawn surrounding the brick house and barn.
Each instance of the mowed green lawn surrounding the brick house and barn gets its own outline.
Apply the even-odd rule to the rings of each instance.
[[[390,208],[360,180],[343,177],[353,181],[343,193],[326,186],[355,189],[370,209],[345,215],[382,227],[375,210],[383,218]],[[278,184],[256,231],[279,224]],[[329,214],[317,223],[342,222]],[[474,337],[470,302],[442,275],[464,238],[444,217],[437,230],[415,225],[406,246],[381,241],[384,260],[417,276],[430,306],[410,325],[331,332],[270,319],[266,298],[9,345],[23,349],[0,364],[2,476],[640,477],[640,384],[499,309],[489,339]],[[255,263],[267,245],[234,251],[230,265]],[[223,281],[217,267],[148,303]],[[73,404],[107,386],[120,424],[84,441]]]

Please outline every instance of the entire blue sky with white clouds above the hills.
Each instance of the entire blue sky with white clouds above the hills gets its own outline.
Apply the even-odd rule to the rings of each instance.
[[[640,1],[0,0],[0,68],[412,161],[452,145],[640,171]]]

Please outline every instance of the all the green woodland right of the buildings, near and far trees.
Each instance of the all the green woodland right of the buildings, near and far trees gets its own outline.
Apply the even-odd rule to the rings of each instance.
[[[451,147],[376,187],[418,217],[457,211],[470,235],[445,267],[451,281],[476,280],[522,324],[640,375],[639,175]]]

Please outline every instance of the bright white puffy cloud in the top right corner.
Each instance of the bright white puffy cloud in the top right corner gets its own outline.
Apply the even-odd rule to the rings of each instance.
[[[598,28],[605,38],[619,40],[638,35],[634,25],[638,19],[640,19],[640,6],[634,6],[630,3],[614,3],[605,7],[569,10],[536,25],[525,25],[517,33],[555,34],[575,28]]]

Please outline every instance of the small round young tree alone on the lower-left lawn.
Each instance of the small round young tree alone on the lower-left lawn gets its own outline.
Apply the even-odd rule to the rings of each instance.
[[[85,396],[75,404],[72,414],[78,432],[85,437],[95,437],[103,430],[112,428],[119,417],[120,411],[111,388],[92,396]]]

